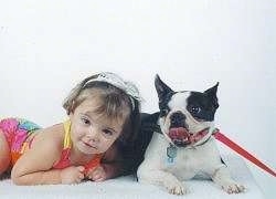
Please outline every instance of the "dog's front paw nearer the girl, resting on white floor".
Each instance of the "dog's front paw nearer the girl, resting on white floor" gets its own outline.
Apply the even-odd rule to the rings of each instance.
[[[188,188],[179,180],[163,181],[163,186],[172,195],[185,195],[189,192]]]

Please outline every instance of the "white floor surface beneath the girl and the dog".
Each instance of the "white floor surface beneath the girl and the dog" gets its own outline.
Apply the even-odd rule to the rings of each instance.
[[[172,196],[160,187],[138,184],[132,176],[120,177],[105,182],[86,181],[79,185],[65,186],[14,186],[10,179],[0,182],[0,198],[110,198],[110,199],[262,199],[263,193],[252,177],[243,159],[234,155],[223,156],[234,179],[246,186],[246,192],[227,195],[209,180],[187,181],[190,193],[182,197]]]

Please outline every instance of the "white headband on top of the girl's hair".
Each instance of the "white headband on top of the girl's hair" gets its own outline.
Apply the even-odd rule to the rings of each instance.
[[[144,101],[135,84],[132,84],[131,82],[128,82],[128,81],[124,81],[120,76],[118,76],[115,73],[110,73],[110,72],[99,73],[96,78],[92,78],[92,80],[87,81],[84,84],[84,86],[91,82],[106,82],[106,83],[114,85],[115,87],[123,90],[129,96],[131,105],[132,105],[132,109],[135,109],[135,101],[134,100],[137,100],[139,102]]]

